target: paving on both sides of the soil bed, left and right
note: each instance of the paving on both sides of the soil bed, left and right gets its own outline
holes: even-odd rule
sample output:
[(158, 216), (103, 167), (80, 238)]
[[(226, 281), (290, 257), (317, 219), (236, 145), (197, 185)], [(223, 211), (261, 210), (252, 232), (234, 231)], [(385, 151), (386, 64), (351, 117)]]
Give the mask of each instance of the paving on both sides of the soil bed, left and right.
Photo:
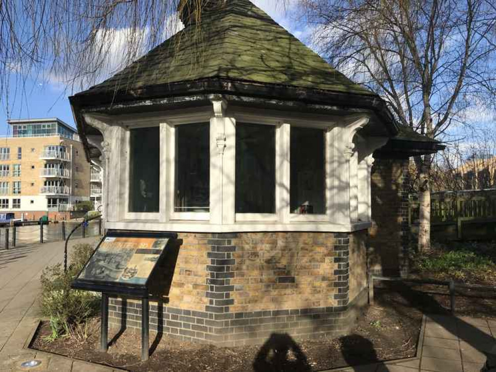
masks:
[[(82, 242), (96, 244), (96, 238), (74, 240), (70, 248)], [(32, 371), (118, 371), (27, 349), (39, 320), (34, 305), (41, 272), (47, 265), (62, 262), (63, 251), (63, 242), (0, 250), (0, 372), (26, 371), (20, 363), (31, 358), (42, 361)], [(496, 348), (495, 337), (496, 320), (428, 316), (416, 358), (334, 371), (479, 372), (486, 361), (484, 352)]]

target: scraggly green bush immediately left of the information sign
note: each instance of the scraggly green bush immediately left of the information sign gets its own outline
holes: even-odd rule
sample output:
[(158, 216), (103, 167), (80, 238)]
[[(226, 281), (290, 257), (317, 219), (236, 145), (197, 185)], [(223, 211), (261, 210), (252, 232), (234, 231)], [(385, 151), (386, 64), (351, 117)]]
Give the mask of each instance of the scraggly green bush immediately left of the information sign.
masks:
[(61, 263), (48, 266), (41, 275), (40, 307), (42, 315), (50, 319), (51, 341), (68, 336), (86, 320), (95, 315), (99, 298), (87, 291), (71, 289), (71, 282), (82, 270), (93, 252), (89, 244), (74, 247), (67, 273)]

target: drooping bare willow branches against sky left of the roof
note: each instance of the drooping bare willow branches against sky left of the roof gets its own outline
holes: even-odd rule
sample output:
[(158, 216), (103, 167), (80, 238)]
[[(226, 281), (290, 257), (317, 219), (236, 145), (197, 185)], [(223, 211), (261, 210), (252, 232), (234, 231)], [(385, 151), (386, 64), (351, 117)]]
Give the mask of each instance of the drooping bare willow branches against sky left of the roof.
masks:
[(177, 16), (217, 0), (0, 0), (0, 105), (26, 79), (87, 88), (130, 64), (182, 25)]

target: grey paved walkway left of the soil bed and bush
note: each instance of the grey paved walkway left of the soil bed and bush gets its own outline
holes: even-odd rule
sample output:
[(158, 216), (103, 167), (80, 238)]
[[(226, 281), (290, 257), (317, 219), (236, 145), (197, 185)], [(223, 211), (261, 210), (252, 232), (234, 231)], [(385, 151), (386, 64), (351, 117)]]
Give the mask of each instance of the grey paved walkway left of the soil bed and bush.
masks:
[[(70, 242), (69, 249), (78, 243), (96, 241), (95, 237), (76, 239)], [(63, 257), (64, 242), (0, 249), (0, 372), (26, 371), (19, 367), (20, 363), (35, 357), (42, 364), (32, 371), (112, 371), (27, 349), (26, 342), (39, 321), (35, 304), (40, 275), (43, 268), (62, 262)]]

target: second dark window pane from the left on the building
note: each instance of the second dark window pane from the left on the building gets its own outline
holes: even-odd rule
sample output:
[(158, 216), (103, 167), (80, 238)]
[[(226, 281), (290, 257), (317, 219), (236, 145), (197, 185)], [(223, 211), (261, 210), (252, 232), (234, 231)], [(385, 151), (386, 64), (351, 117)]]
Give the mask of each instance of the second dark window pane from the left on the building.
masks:
[(175, 156), (176, 212), (210, 210), (210, 124), (178, 125)]

